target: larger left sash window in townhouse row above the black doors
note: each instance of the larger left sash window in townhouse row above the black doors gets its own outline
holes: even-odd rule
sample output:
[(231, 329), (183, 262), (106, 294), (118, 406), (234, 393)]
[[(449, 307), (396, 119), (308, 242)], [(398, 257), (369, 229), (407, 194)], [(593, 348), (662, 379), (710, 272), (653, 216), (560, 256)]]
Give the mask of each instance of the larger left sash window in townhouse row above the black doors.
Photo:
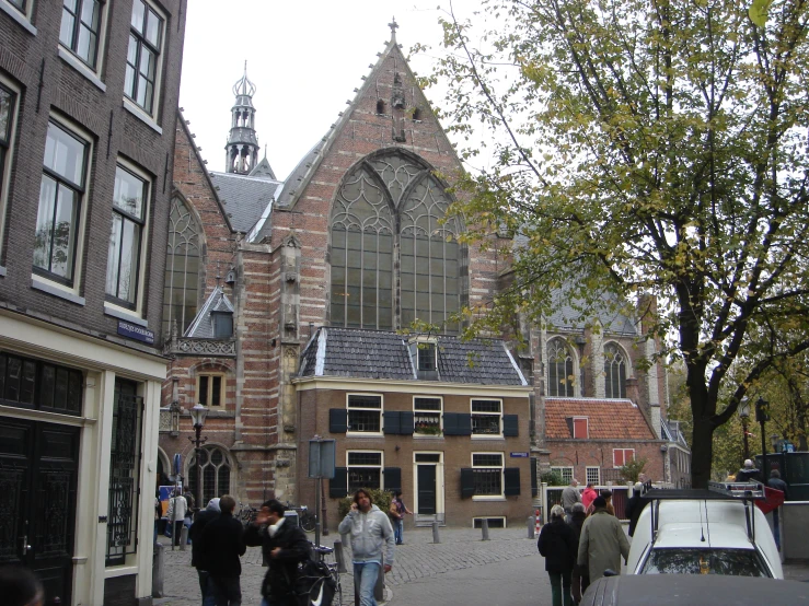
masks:
[(34, 271), (73, 285), (86, 194), (91, 143), (56, 121), (48, 124), (36, 217)]

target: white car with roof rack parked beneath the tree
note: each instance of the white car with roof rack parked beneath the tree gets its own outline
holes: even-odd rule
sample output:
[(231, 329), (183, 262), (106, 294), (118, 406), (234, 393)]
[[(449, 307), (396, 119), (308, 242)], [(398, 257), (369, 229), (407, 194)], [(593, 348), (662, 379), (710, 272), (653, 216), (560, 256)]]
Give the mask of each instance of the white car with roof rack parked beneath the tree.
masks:
[(784, 579), (772, 531), (753, 503), (755, 485), (652, 490), (638, 517), (629, 574), (733, 574)]

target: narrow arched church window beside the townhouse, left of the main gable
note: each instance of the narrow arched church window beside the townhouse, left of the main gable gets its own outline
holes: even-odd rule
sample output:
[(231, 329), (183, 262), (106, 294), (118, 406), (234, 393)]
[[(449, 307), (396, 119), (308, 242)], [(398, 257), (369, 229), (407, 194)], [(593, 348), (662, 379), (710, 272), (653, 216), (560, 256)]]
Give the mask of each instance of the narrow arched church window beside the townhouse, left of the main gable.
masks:
[(183, 200), (172, 199), (169, 250), (163, 287), (163, 334), (177, 323), (182, 335), (197, 314), (199, 291), (199, 225)]

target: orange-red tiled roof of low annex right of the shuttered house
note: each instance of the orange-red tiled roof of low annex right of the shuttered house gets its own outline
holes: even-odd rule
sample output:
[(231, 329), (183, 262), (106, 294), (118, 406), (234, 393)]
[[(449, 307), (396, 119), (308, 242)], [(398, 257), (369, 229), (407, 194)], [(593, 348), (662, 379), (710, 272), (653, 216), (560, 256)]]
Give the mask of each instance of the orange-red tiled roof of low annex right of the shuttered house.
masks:
[(570, 417), (587, 417), (590, 440), (657, 440), (646, 417), (628, 399), (545, 398), (545, 438), (573, 438)]

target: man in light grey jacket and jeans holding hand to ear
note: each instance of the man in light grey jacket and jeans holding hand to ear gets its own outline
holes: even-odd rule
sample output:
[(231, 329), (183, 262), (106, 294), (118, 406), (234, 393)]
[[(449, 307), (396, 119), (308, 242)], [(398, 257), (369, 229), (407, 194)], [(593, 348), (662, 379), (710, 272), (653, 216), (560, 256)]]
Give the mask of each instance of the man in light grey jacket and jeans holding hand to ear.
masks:
[[(351, 509), (337, 527), (339, 534), (350, 535), (354, 561), (354, 585), (359, 587), (359, 606), (377, 606), (373, 588), (380, 567), (385, 574), (393, 567), (395, 540), (393, 528), (382, 510), (373, 504), (367, 490), (354, 493)], [(382, 544), (386, 544), (384, 560)]]

